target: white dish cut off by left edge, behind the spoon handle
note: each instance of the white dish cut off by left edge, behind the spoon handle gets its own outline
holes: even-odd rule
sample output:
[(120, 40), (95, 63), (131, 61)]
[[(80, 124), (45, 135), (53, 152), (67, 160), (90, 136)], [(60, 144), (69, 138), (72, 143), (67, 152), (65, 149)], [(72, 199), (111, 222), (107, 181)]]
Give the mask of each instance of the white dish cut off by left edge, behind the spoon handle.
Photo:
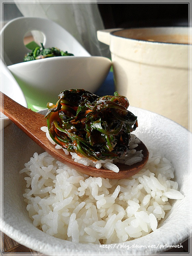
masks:
[[(3, 65), (3, 62), (0, 60), (0, 91), (5, 93), (7, 96), (20, 103), (24, 107), (27, 107), (27, 102), (23, 94), (22, 89), (19, 84), (16, 82), (15, 78), (8, 70), (7, 67)], [(0, 103), (2, 104), (2, 102)], [(8, 117), (0, 113), (0, 129), (5, 128), (11, 121)]]

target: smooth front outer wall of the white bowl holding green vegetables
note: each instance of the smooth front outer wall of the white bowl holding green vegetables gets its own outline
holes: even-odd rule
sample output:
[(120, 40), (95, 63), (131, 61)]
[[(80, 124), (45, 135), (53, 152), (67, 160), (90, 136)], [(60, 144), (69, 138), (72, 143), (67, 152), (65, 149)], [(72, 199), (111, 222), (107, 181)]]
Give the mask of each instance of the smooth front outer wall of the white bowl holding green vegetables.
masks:
[[(61, 91), (82, 88), (95, 92), (111, 67), (108, 58), (52, 57), (8, 66), (33, 109), (56, 104)], [(31, 107), (31, 106), (30, 106)]]

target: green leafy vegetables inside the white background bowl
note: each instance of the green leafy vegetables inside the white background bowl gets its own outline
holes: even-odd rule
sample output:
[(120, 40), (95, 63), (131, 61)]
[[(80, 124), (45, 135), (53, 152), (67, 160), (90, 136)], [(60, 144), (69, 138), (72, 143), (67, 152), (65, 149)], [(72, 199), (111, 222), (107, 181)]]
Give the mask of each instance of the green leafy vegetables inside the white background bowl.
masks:
[(29, 52), (24, 57), (24, 62), (50, 58), (50, 57), (57, 57), (57, 56), (74, 56), (72, 53), (68, 53), (67, 51), (60, 51), (58, 48), (44, 48), (43, 44), (41, 43), (41, 47), (36, 47), (32, 52)]

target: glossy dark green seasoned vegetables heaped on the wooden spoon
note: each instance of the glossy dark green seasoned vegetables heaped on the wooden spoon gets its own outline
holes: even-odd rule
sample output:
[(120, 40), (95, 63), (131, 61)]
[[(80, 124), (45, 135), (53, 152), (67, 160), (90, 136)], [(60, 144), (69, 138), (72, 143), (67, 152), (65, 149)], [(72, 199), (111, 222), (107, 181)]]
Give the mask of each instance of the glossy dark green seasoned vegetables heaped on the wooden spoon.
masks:
[(117, 92), (98, 97), (84, 89), (62, 91), (56, 105), (47, 103), (51, 138), (70, 152), (92, 160), (114, 159), (129, 151), (137, 117)]

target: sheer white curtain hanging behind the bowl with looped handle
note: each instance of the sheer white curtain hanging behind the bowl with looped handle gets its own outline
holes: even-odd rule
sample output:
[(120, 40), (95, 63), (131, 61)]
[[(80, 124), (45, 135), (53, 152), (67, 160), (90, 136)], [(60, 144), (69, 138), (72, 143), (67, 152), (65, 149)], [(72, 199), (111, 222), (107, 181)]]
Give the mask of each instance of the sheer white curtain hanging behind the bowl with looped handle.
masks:
[(50, 19), (71, 33), (78, 42), (92, 55), (110, 57), (109, 46), (97, 39), (97, 30), (104, 29), (102, 17), (96, 2), (45, 0), (14, 0), (24, 17)]

